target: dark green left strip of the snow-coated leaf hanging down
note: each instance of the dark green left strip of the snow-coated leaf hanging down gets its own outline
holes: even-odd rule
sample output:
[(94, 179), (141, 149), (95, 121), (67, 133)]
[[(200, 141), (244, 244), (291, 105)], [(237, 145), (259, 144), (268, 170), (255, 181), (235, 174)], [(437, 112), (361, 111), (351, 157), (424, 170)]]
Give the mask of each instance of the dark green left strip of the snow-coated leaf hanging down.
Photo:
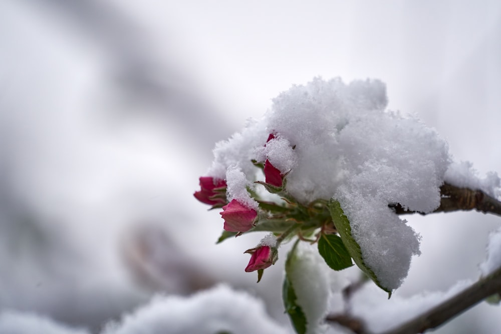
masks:
[(292, 266), (294, 265), (294, 258), (296, 256), (295, 252), (296, 252), (296, 246), (298, 245), (298, 241), (296, 241), (294, 247), (287, 255), (287, 260), (285, 263), (284, 285), (282, 288), (282, 298), (284, 300), (285, 311), (286, 313), (289, 314), (289, 317), (291, 318), (291, 322), (294, 325), (296, 332), (298, 334), (305, 334), (306, 324), (308, 323), (308, 321), (306, 320), (306, 315), (303, 312), (303, 309), (297, 303), (296, 291), (294, 290), (294, 286), (292, 285), (291, 279), (289, 277), (290, 272), (292, 270)]

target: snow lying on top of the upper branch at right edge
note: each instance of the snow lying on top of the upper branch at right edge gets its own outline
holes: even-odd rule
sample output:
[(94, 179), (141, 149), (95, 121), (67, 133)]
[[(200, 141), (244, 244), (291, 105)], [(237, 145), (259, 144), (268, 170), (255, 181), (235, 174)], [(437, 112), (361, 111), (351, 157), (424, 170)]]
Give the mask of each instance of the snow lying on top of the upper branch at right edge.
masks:
[(488, 172), (483, 179), (477, 174), (471, 162), (454, 162), (445, 172), (444, 181), (460, 188), (482, 190), (494, 198), (501, 196), (501, 180), (497, 173)]

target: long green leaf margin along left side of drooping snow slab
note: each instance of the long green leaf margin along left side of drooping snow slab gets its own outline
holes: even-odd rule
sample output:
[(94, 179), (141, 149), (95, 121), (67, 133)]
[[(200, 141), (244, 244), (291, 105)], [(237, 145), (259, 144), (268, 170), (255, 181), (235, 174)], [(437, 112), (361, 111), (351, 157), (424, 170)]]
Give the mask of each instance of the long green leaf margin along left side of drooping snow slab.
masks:
[(388, 292), (388, 298), (391, 296), (391, 289), (381, 285), (376, 274), (369, 268), (362, 258), (362, 250), (360, 249), (360, 245), (353, 239), (351, 235), (351, 226), (348, 217), (344, 214), (343, 209), (341, 208), (341, 204), (338, 201), (331, 199), (329, 202), (329, 211), (331, 212), (332, 221), (336, 226), (336, 229), (341, 236), (341, 240), (343, 240), (346, 249), (350, 253), (353, 260), (358, 265), (358, 267), (369, 276), (377, 286)]

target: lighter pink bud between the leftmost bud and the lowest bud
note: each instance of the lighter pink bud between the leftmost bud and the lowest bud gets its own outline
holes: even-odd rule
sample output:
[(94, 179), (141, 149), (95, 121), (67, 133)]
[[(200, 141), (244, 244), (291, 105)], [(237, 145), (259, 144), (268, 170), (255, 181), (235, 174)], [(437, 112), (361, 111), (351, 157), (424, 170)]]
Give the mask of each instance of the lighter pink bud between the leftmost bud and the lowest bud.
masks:
[(224, 229), (228, 232), (247, 232), (254, 226), (258, 212), (240, 204), (236, 199), (222, 207)]

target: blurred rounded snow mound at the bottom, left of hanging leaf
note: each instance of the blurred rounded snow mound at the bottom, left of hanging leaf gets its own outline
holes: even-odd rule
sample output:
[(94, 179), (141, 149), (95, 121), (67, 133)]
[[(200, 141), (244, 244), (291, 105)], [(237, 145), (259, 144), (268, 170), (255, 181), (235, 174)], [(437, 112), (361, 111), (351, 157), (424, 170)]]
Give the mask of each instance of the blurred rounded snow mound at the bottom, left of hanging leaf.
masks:
[(191, 297), (157, 297), (150, 304), (111, 322), (102, 334), (286, 334), (262, 301), (220, 285)]

